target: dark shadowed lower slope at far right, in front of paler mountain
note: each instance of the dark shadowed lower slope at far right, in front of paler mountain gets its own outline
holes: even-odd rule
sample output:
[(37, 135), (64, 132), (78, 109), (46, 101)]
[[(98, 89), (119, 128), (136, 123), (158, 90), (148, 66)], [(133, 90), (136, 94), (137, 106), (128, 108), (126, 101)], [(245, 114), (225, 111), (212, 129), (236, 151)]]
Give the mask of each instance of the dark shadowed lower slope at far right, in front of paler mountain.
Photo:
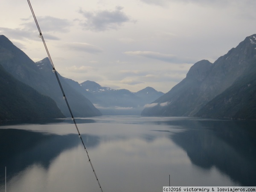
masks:
[(195, 116), (256, 119), (256, 60), (246, 75), (208, 102)]

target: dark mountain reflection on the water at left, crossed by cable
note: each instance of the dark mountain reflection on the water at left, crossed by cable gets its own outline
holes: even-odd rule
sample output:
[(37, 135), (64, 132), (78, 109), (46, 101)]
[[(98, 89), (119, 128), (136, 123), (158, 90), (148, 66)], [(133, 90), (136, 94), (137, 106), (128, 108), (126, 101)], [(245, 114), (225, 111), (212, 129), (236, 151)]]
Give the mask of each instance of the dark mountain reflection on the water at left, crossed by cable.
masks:
[[(97, 136), (82, 135), (82, 137), (88, 148), (99, 143)], [(80, 142), (76, 134), (57, 135), (18, 129), (0, 129), (0, 165), (8, 167), (9, 177), (34, 163), (48, 169), (51, 160)], [(1, 182), (3, 182), (3, 174), (0, 172)]]

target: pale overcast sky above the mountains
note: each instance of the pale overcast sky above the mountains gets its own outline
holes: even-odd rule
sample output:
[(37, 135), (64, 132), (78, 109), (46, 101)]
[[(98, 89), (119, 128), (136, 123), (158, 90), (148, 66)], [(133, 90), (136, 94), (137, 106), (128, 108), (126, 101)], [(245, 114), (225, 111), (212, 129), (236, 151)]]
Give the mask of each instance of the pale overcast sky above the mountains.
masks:
[[(164, 93), (197, 61), (214, 62), (256, 33), (255, 0), (30, 0), (55, 69), (133, 92)], [(47, 57), (27, 0), (1, 0), (0, 35)]]

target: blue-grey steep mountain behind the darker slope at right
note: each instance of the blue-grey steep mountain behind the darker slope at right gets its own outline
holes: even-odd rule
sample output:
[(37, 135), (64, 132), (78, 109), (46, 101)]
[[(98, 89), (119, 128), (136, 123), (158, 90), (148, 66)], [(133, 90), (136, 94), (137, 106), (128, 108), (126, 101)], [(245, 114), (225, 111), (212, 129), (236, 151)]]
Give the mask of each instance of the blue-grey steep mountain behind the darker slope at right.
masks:
[(245, 38), (236, 48), (213, 64), (199, 61), (185, 79), (142, 111), (149, 116), (194, 116), (209, 101), (230, 87), (255, 64), (256, 35)]

